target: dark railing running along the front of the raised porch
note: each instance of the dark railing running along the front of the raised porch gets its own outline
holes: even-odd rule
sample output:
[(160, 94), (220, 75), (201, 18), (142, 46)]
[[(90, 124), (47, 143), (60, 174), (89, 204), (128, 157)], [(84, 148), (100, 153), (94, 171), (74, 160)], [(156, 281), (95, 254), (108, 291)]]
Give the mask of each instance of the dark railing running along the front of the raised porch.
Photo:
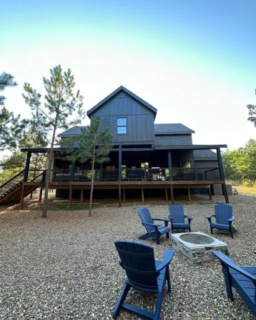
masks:
[[(95, 169), (95, 181), (118, 181), (118, 169)], [(215, 168), (122, 168), (121, 180), (153, 181), (153, 180), (219, 180), (220, 170)], [(29, 170), (27, 181), (45, 181), (46, 170)], [(50, 181), (90, 181), (91, 169), (53, 169)]]

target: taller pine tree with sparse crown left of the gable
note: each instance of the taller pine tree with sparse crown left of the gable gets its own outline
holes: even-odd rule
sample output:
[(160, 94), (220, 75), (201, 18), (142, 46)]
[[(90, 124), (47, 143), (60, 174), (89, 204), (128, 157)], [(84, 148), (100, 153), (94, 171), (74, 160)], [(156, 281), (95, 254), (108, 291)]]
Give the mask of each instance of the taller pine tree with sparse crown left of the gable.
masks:
[(43, 77), (43, 84), (46, 90), (44, 103), (41, 102), (41, 94), (27, 82), (24, 83), (25, 93), (22, 96), (31, 107), (32, 123), (50, 145), (42, 207), (42, 217), (46, 217), (53, 146), (58, 143), (56, 130), (66, 130), (71, 125), (79, 124), (85, 114), (82, 110), (83, 96), (79, 90), (73, 93), (75, 82), (69, 68), (67, 71), (62, 71), (60, 64), (54, 66), (50, 69), (50, 77), (48, 79)]

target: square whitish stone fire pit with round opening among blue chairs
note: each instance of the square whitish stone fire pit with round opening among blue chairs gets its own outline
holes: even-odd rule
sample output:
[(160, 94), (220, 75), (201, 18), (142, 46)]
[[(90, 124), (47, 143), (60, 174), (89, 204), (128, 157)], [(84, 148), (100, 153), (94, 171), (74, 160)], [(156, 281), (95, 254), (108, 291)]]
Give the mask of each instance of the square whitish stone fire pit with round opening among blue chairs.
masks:
[(216, 259), (212, 251), (218, 250), (228, 254), (228, 247), (212, 236), (202, 232), (172, 233), (171, 243), (191, 262), (210, 261)]

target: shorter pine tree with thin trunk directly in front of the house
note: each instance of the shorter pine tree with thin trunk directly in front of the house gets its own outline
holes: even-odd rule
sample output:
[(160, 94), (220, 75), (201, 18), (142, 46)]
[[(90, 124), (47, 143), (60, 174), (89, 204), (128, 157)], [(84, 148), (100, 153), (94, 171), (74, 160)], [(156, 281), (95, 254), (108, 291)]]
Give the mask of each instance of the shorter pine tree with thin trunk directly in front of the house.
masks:
[[(108, 154), (112, 147), (111, 139), (112, 135), (109, 133), (107, 127), (104, 130), (100, 130), (100, 117), (97, 116), (95, 119), (91, 119), (90, 126), (81, 129), (81, 134), (76, 138), (76, 143), (78, 145), (77, 150), (67, 150), (69, 153), (68, 158), (70, 160), (78, 160), (82, 163), (90, 161), (91, 163), (92, 177), (88, 216), (91, 216), (94, 164), (109, 161)], [(73, 143), (74, 140), (68, 138), (63, 139), (62, 141), (62, 144), (64, 145), (73, 145)]]

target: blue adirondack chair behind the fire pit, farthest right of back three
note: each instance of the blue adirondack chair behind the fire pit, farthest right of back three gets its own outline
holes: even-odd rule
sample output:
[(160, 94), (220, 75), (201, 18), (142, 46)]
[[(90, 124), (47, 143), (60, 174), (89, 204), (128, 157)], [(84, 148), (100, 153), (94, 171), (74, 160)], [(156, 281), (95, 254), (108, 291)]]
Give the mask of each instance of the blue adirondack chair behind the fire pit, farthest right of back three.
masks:
[[(205, 218), (208, 219), (210, 224), (210, 233), (212, 234), (212, 229), (221, 229), (230, 231), (231, 237), (233, 237), (233, 227), (232, 221), (234, 217), (232, 216), (232, 206), (229, 204), (215, 204), (214, 206), (215, 214), (206, 215)], [(216, 218), (216, 223), (211, 222), (211, 217)]]

